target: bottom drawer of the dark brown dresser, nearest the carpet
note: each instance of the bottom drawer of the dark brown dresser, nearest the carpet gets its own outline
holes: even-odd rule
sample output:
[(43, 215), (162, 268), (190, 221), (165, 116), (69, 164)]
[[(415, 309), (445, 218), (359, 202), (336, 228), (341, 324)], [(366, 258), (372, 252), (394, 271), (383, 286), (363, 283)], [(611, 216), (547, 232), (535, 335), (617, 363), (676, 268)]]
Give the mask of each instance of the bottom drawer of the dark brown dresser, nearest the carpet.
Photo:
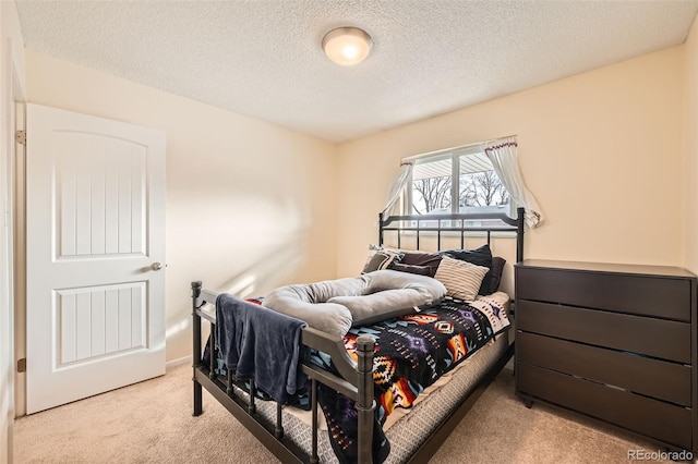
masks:
[(691, 411), (524, 363), (518, 391), (675, 447), (691, 448)]

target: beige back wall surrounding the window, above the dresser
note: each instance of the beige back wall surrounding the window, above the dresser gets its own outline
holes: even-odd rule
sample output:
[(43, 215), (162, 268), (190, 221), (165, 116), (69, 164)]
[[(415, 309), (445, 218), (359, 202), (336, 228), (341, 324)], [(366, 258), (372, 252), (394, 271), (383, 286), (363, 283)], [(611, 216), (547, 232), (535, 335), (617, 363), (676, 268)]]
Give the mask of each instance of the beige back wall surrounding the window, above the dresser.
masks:
[(683, 58), (665, 49), (340, 146), (338, 274), (376, 241), (401, 158), (514, 134), (546, 219), (525, 257), (682, 265)]

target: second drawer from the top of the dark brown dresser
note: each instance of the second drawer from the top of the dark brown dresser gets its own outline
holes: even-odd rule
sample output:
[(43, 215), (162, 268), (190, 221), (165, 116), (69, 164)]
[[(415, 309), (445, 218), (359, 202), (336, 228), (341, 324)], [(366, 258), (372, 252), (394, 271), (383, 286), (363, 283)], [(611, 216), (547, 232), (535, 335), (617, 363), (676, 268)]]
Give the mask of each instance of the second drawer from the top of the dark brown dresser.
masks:
[(518, 330), (690, 364), (690, 323), (517, 300)]

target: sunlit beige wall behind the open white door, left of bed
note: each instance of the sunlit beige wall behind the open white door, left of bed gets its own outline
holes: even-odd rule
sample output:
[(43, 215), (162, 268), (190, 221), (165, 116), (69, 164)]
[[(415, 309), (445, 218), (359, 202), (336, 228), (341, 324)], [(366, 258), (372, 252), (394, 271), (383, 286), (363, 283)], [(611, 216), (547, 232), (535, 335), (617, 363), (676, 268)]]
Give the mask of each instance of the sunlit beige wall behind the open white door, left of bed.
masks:
[(336, 147), (26, 51), (29, 101), (167, 132), (167, 359), (191, 354), (190, 282), (262, 295), (336, 269)]

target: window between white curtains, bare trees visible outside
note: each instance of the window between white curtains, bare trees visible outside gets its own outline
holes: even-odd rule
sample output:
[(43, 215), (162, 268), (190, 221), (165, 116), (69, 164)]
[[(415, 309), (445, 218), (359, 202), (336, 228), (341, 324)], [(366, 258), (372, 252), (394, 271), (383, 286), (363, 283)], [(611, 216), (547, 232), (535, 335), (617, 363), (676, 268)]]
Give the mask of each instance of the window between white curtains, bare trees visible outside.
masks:
[(406, 210), (412, 215), (500, 212), (515, 217), (512, 199), (480, 146), (413, 159)]

